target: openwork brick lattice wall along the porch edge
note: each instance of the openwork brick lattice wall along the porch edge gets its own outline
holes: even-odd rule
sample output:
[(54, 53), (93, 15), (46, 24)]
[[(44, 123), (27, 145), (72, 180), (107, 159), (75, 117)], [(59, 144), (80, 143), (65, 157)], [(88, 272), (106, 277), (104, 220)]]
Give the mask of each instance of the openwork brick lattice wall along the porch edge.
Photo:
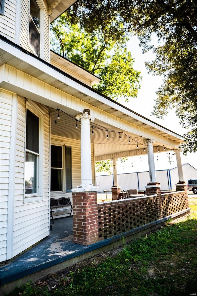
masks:
[(111, 238), (188, 208), (185, 191), (98, 204), (98, 240)]

